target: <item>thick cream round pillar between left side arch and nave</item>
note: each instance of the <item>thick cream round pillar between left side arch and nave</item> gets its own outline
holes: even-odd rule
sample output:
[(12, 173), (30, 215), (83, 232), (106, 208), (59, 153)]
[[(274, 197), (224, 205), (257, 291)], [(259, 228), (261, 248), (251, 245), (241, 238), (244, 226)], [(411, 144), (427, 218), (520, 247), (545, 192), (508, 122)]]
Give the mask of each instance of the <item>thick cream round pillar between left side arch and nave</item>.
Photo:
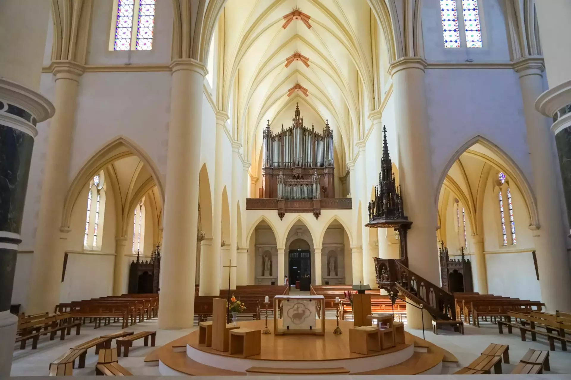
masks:
[(170, 67), (171, 115), (160, 260), (159, 328), (186, 329), (194, 323), (196, 210), (206, 67), (194, 59), (176, 59)]

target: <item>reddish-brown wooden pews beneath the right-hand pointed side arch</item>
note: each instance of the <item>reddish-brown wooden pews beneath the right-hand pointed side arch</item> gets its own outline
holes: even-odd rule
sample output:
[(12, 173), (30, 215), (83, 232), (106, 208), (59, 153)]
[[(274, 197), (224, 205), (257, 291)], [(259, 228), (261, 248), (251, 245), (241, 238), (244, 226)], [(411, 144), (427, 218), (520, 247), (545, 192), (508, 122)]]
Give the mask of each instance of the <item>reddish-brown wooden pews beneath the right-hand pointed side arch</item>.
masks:
[(508, 312), (541, 312), (544, 303), (480, 293), (455, 293), (456, 318), (480, 327), (480, 319), (496, 321)]

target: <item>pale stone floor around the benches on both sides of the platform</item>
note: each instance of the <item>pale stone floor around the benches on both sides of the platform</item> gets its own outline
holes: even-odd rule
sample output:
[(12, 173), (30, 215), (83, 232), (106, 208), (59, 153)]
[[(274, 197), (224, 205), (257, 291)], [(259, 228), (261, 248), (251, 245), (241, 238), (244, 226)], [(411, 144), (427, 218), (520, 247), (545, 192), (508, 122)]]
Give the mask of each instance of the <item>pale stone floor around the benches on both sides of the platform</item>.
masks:
[[(498, 334), (497, 326), (489, 322), (481, 322), (480, 328), (471, 325), (465, 325), (465, 335), (454, 332), (440, 332), (438, 335), (432, 333), (432, 330), (425, 332), (425, 339), (455, 354), (459, 360), (458, 367), (444, 367), (444, 374), (453, 373), (461, 366), (467, 365), (476, 359), (480, 353), (490, 344), (507, 344), (509, 345), (510, 364), (503, 364), (503, 373), (510, 373), (516, 363), (524, 356), (529, 348), (549, 350), (549, 345), (541, 336), (537, 337), (537, 342), (522, 342), (520, 334)], [(128, 330), (144, 331), (157, 330), (156, 346), (166, 344), (176, 338), (188, 334), (196, 328), (184, 330), (160, 330), (157, 328), (156, 319), (138, 323), (130, 326)], [(67, 336), (65, 341), (60, 341), (59, 337), (50, 341), (47, 337), (42, 337), (38, 344), (37, 350), (31, 350), (31, 342), (25, 350), (19, 350), (18, 345), (14, 345), (14, 360), (12, 364), (12, 376), (36, 376), (48, 375), (49, 363), (54, 359), (62, 356), (68, 348), (81, 344), (87, 340), (104, 334), (116, 332), (120, 330), (120, 324), (112, 324), (94, 329), (93, 324), (83, 325), (81, 335), (76, 336), (75, 331), (72, 335)], [(422, 330), (408, 329), (409, 333), (423, 337)], [(530, 337), (528, 336), (530, 339)], [(154, 348), (144, 347), (143, 340), (134, 342), (129, 352), (128, 358), (120, 358), (119, 363), (130, 370), (134, 375), (160, 375), (158, 367), (145, 366), (143, 359)], [(562, 352), (560, 345), (556, 343), (556, 351), (549, 353), (551, 371), (547, 374), (571, 374), (571, 350)], [(90, 349), (87, 354), (86, 366), (82, 369), (74, 369), (74, 375), (94, 375), (97, 356), (95, 350)], [(535, 378), (535, 377), (534, 377)], [(569, 375), (571, 378), (571, 375)]]

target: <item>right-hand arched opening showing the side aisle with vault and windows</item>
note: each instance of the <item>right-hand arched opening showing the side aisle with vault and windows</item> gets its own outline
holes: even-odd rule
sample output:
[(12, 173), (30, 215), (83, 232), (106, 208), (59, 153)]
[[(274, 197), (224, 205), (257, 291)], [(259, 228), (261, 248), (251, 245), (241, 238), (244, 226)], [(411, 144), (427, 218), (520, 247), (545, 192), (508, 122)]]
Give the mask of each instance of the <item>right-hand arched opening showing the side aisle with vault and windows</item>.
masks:
[(470, 288), (464, 279), (472, 278), (476, 292), (541, 299), (529, 228), (537, 220), (535, 200), (517, 165), (491, 142), (476, 138), (452, 158), (441, 178), (438, 238), (452, 260), (464, 254), (472, 263), (472, 273), (441, 267), (451, 289), (454, 281), (456, 289), (460, 282)]

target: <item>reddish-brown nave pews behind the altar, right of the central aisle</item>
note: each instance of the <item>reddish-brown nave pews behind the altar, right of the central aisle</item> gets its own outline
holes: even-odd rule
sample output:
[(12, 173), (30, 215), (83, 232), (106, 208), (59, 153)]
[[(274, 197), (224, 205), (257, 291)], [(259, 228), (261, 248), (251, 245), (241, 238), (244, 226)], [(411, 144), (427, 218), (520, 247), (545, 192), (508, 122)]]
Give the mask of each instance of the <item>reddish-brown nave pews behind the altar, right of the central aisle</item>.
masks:
[[(345, 320), (345, 315), (352, 313), (351, 303), (345, 299), (345, 292), (355, 292), (352, 290), (351, 285), (315, 285), (311, 287), (311, 294), (316, 296), (325, 297), (325, 309), (335, 309), (335, 299), (339, 297), (339, 318)], [(407, 314), (407, 305), (401, 301), (396, 300), (393, 307), (389, 296), (380, 295), (379, 290), (365, 291), (371, 295), (371, 308), (373, 313), (392, 313), (402, 320), (403, 314)]]

